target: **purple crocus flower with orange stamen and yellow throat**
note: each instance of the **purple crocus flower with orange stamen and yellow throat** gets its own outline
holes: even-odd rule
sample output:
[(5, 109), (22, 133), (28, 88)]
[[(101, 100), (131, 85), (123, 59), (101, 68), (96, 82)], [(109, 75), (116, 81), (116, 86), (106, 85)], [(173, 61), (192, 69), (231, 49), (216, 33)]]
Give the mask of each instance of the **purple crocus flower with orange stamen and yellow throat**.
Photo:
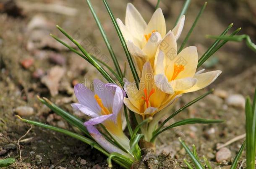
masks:
[(84, 123), (91, 136), (102, 147), (107, 146), (112, 152), (117, 152), (116, 149), (118, 148), (112, 144), (110, 145), (99, 131), (94, 128), (96, 124), (103, 124), (124, 149), (130, 150), (129, 139), (122, 130), (121, 110), (125, 91), (115, 84), (105, 84), (99, 80), (94, 80), (94, 92), (81, 83), (74, 86), (74, 91), (79, 103), (73, 103), (71, 106), (91, 117), (89, 121)]

